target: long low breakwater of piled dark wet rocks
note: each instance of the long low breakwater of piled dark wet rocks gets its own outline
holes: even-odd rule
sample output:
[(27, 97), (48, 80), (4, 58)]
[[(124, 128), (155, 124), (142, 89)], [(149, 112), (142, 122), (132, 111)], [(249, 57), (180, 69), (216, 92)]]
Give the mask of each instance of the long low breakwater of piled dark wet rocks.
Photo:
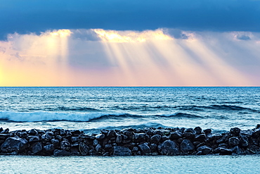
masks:
[(0, 154), (40, 156), (141, 156), (260, 154), (260, 125), (252, 130), (143, 128), (100, 130), (15, 130), (0, 128)]

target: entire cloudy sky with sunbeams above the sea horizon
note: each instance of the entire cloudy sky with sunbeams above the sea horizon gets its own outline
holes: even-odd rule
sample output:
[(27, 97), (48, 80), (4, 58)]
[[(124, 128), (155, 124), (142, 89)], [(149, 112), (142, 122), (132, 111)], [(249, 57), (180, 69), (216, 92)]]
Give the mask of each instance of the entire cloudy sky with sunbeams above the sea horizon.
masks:
[(259, 0), (0, 0), (0, 86), (260, 86)]

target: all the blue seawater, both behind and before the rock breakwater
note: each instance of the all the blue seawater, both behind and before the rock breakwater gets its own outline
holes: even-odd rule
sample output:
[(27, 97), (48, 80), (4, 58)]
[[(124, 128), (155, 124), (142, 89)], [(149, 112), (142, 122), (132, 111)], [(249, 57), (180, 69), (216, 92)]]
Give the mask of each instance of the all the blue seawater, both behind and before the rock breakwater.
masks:
[[(0, 87), (0, 128), (212, 128), (260, 123), (260, 87)], [(256, 156), (1, 156), (1, 173), (259, 173)], [(207, 161), (205, 163), (204, 161)], [(256, 165), (257, 164), (257, 165)], [(36, 167), (37, 166), (37, 167)]]

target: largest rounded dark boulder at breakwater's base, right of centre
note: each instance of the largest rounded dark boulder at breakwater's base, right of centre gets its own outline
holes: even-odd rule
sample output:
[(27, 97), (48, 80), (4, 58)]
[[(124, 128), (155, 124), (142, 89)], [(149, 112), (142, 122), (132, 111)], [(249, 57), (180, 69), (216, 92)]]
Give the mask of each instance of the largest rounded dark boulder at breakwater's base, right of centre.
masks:
[(179, 154), (178, 145), (171, 141), (166, 140), (158, 146), (158, 151), (162, 155), (177, 155)]

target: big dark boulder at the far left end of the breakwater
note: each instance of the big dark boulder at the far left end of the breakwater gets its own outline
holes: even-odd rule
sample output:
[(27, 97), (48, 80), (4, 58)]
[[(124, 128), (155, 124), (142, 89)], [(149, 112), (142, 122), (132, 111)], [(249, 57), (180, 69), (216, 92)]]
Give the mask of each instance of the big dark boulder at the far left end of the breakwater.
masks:
[(6, 141), (1, 144), (2, 151), (22, 151), (23, 149), (29, 147), (27, 140), (20, 137), (8, 137)]

